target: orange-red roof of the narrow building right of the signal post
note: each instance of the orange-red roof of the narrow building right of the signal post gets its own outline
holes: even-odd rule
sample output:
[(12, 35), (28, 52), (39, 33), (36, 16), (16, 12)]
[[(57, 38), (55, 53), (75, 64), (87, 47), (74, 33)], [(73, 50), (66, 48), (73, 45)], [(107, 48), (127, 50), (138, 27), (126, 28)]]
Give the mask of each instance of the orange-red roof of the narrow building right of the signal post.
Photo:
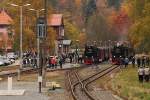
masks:
[(48, 18), (49, 26), (61, 26), (63, 24), (63, 15), (62, 14), (52, 14)]

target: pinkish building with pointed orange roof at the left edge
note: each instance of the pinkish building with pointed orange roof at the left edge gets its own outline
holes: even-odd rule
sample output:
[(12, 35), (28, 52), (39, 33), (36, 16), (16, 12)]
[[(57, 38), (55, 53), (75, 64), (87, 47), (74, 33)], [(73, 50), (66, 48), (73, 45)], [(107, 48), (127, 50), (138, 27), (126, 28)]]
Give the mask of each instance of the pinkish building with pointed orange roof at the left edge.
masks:
[(12, 18), (5, 10), (0, 11), (0, 52), (9, 52), (13, 49)]

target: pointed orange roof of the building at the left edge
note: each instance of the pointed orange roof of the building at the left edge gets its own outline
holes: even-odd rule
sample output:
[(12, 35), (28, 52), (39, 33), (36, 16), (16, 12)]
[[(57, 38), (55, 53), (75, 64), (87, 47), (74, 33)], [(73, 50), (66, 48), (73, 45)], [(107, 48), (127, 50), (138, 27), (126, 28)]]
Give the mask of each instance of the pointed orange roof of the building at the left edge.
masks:
[(12, 18), (4, 10), (0, 12), (0, 24), (10, 25), (12, 21)]

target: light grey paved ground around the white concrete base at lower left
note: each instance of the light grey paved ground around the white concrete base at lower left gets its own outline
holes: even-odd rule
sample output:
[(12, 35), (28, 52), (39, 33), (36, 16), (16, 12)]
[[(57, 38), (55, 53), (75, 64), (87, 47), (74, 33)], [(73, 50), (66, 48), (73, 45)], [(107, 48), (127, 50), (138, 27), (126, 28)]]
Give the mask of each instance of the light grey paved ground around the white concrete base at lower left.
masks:
[[(38, 93), (38, 84), (35, 82), (15, 82), (13, 89), (25, 89), (23, 96), (0, 96), (0, 100), (48, 100), (49, 97)], [(0, 90), (7, 88), (7, 82), (0, 82)]]

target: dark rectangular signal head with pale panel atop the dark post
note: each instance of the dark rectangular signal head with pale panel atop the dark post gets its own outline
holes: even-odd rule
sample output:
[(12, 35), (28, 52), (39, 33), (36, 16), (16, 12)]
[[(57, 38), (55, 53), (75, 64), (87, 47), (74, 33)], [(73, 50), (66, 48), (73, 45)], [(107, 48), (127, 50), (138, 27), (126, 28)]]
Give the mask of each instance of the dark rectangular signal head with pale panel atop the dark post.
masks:
[(44, 17), (39, 17), (37, 20), (37, 37), (46, 37), (46, 21)]

